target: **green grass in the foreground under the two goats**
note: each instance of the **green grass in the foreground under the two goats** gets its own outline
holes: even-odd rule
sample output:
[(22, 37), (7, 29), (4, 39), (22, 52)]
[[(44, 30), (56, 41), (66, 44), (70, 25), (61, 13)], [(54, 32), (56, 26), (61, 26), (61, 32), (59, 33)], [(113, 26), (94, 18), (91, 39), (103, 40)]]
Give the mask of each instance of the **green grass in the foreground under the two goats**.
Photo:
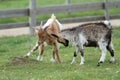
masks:
[[(14, 57), (25, 55), (35, 44), (36, 36), (0, 37), (0, 80), (119, 80), (120, 79), (120, 27), (113, 29), (113, 44), (115, 48), (115, 63), (108, 62), (110, 55), (107, 53), (106, 61), (97, 67), (100, 52), (97, 48), (85, 48), (85, 64), (71, 65), (74, 47), (70, 45), (60, 47), (62, 63), (51, 63), (52, 48), (45, 47), (42, 62), (36, 61), (38, 51), (29, 58), (26, 64), (10, 64)], [(9, 64), (8, 64), (9, 63)]]

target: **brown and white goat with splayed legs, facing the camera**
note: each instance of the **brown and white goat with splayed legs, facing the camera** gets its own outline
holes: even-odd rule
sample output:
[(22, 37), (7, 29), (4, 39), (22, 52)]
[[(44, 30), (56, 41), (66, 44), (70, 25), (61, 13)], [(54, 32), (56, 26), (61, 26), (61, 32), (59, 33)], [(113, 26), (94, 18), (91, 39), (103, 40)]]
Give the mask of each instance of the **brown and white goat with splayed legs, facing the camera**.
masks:
[(56, 19), (54, 14), (51, 16), (50, 19), (46, 22), (44, 26), (40, 26), (40, 28), (36, 29), (36, 33), (38, 36), (38, 42), (33, 47), (33, 49), (28, 52), (24, 57), (29, 57), (35, 50), (38, 49), (40, 46), (41, 52), (39, 53), (37, 60), (42, 61), (43, 59), (43, 52), (44, 52), (44, 43), (46, 42), (48, 45), (53, 46), (53, 54), (51, 61), (55, 62), (55, 54), (57, 56), (58, 63), (61, 63), (58, 54), (58, 43), (62, 43), (64, 46), (68, 46), (69, 41), (62, 37), (60, 34), (62, 24)]

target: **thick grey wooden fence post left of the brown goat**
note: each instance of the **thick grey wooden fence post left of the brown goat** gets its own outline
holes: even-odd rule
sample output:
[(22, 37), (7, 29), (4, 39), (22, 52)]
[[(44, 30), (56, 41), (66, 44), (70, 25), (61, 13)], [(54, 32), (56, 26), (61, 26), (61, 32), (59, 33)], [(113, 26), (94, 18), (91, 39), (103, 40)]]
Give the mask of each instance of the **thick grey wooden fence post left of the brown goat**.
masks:
[(29, 26), (30, 35), (34, 35), (36, 26), (36, 0), (29, 0)]

